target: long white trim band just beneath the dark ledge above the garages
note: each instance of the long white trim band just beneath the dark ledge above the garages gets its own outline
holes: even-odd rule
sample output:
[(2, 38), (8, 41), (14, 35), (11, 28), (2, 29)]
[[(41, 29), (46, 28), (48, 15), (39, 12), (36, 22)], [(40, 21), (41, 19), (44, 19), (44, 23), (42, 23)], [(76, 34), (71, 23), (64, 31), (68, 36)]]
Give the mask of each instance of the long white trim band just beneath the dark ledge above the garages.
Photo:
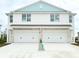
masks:
[(39, 28), (53, 28), (53, 29), (71, 29), (71, 26), (12, 26), (12, 29), (15, 29), (15, 28), (21, 28), (21, 29), (28, 29), (28, 28), (36, 28), (36, 29), (39, 29)]

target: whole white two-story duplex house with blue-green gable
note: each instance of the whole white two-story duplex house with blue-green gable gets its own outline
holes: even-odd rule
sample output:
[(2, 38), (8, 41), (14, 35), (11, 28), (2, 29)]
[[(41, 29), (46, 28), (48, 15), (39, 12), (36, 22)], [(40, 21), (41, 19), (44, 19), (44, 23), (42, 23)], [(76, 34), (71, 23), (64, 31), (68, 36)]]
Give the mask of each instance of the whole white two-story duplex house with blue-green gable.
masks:
[(8, 43), (43, 42), (72, 43), (74, 15), (44, 1), (7, 13)]

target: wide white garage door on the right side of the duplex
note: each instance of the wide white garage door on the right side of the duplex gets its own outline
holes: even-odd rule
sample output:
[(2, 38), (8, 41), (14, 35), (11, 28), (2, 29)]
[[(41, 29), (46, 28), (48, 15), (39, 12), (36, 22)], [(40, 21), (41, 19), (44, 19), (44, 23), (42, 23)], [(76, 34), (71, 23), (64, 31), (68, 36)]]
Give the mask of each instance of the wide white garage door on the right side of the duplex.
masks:
[(68, 42), (67, 30), (44, 30), (43, 42)]

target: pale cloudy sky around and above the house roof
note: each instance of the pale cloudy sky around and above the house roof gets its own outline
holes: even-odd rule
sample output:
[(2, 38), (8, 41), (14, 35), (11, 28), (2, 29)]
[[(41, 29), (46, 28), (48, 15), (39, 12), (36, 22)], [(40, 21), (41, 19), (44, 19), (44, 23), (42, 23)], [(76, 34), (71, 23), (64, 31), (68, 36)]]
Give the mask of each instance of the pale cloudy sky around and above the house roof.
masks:
[[(2, 25), (1, 30), (4, 31), (8, 25), (8, 17), (5, 13), (16, 10), (23, 6), (32, 4), (39, 0), (0, 0), (0, 24)], [(79, 32), (79, 0), (43, 0), (52, 5), (56, 5), (60, 8), (72, 11), (73, 13), (77, 13), (74, 17), (75, 23), (75, 36), (77, 36), (77, 32)]]

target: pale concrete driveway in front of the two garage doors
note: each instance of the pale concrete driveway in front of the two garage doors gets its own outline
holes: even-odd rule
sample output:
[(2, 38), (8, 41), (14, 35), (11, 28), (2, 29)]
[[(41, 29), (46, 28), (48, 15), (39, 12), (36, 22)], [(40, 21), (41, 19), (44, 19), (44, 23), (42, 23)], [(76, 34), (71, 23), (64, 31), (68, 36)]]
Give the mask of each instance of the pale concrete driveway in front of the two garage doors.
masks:
[(79, 47), (64, 43), (12, 43), (0, 48), (0, 58), (79, 58)]

